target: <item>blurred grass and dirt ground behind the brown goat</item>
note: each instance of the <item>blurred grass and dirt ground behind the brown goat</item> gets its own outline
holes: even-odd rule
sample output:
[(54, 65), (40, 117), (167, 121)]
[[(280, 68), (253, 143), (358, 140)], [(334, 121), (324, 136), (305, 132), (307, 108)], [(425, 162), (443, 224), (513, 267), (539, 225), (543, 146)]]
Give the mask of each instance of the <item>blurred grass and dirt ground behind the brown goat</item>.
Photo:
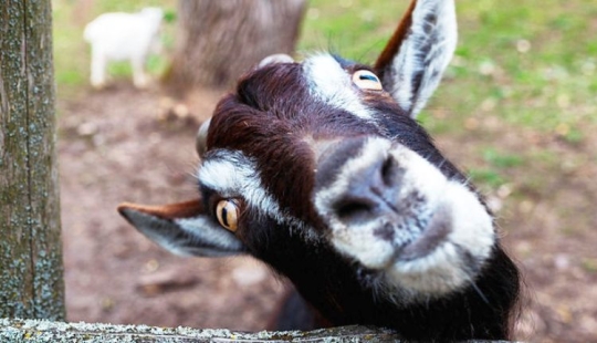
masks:
[[(125, 200), (193, 197), (196, 129), (239, 73), (180, 76), (195, 74), (193, 67), (221, 67), (201, 64), (207, 58), (180, 56), (203, 44), (203, 37), (228, 30), (206, 20), (213, 12), (197, 13), (179, 1), (52, 1), (67, 319), (261, 330), (283, 280), (250, 258), (170, 256), (115, 210)], [(129, 63), (117, 62), (108, 66), (106, 85), (92, 87), (85, 25), (104, 12), (149, 6), (161, 8), (164, 20), (159, 49), (147, 61), (148, 85), (135, 87)], [(300, 28), (295, 55), (331, 50), (374, 62), (407, 6), (306, 1), (293, 14)], [(485, 195), (523, 270), (517, 339), (596, 342), (597, 3), (458, 0), (457, 7), (459, 46), (420, 121)], [(205, 25), (192, 29), (201, 33), (190, 42), (193, 15)], [(234, 15), (220, 17), (238, 30)], [(259, 50), (260, 41), (273, 40), (255, 32), (262, 33), (237, 46)], [(292, 34), (284, 40), (292, 50)], [(221, 45), (195, 50), (214, 55)], [(227, 53), (216, 60), (230, 67), (243, 60), (240, 52)]]

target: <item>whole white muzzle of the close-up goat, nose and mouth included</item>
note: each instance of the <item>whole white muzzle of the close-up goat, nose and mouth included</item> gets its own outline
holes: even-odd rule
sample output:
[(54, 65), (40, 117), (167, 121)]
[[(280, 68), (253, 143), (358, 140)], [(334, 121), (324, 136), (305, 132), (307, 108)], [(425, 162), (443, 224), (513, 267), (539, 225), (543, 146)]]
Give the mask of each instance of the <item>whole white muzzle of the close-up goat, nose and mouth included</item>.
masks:
[(404, 146), (367, 145), (315, 194), (331, 243), (409, 293), (441, 295), (470, 283), (495, 243), (478, 195)]

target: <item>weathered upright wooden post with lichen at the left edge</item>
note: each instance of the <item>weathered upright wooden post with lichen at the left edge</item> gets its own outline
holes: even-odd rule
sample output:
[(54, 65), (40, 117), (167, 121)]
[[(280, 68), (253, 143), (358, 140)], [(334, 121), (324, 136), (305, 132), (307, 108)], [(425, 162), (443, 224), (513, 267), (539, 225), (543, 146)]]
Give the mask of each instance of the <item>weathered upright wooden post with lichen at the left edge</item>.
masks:
[(64, 319), (51, 0), (0, 6), (0, 316)]

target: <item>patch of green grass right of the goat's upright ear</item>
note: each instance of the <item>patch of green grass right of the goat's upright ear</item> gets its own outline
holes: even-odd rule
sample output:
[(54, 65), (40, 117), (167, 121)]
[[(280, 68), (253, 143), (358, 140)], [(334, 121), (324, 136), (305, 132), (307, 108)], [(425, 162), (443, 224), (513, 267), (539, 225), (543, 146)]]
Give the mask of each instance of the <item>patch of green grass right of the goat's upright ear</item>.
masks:
[(451, 98), (462, 94), (461, 87), (474, 90), (476, 102), (453, 108), (470, 114), (479, 110), (479, 103), (492, 100), (492, 113), (506, 123), (542, 132), (596, 122), (596, 43), (587, 34), (597, 28), (590, 20), (597, 14), (595, 3), (485, 0), (458, 4), (459, 85), (440, 90), (438, 96)]

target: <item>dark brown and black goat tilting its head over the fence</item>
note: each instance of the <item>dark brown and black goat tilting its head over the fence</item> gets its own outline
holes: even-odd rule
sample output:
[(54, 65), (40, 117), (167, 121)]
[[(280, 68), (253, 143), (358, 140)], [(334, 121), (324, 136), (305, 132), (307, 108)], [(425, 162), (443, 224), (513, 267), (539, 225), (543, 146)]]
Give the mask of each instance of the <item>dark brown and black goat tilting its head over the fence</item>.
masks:
[(415, 0), (373, 67), (268, 58), (199, 129), (200, 198), (118, 210), (175, 253), (264, 261), (329, 325), (509, 339), (517, 268), (416, 121), (455, 44), (454, 1)]

